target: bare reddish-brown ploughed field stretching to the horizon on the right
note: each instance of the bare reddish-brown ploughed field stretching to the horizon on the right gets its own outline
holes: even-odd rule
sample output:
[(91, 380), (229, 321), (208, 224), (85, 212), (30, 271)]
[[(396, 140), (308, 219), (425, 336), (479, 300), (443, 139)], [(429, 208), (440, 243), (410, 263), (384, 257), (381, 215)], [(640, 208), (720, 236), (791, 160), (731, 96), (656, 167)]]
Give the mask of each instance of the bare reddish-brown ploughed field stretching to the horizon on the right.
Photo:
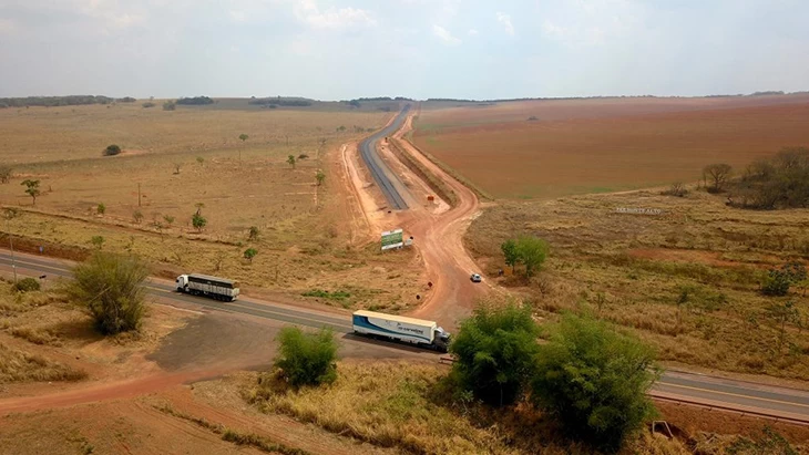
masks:
[[(529, 121), (529, 118), (535, 118)], [(414, 143), (494, 197), (695, 180), (809, 143), (809, 95), (423, 103)]]

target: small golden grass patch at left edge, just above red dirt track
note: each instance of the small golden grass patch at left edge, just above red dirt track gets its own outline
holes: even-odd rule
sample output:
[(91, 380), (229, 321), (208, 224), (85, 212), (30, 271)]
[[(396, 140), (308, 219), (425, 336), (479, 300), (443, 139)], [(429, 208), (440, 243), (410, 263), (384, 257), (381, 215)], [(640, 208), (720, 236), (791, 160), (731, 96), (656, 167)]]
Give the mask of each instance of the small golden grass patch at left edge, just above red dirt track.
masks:
[(0, 384), (33, 381), (81, 381), (88, 373), (0, 343)]

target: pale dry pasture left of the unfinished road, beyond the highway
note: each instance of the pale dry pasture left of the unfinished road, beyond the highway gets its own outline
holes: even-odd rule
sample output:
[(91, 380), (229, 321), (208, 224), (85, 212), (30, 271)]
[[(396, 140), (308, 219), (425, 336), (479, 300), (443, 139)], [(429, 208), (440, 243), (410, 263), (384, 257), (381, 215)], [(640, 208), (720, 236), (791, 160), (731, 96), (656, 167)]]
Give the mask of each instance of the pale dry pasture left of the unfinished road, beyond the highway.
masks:
[[(103, 249), (141, 255), (166, 277), (198, 271), (295, 294), (324, 289), (329, 297), (318, 300), (347, 308), (398, 311), (414, 303), (412, 255), (382, 256), (350, 244), (350, 207), (339, 180), (339, 146), (366, 134), (354, 127), (380, 127), (391, 114), (372, 103), (361, 111), (337, 110), (337, 103), (308, 110), (243, 104), (174, 112), (140, 102), (0, 110), (0, 158), (14, 170), (0, 185), (0, 203), (22, 209), (10, 221), (12, 232), (25, 237), (20, 246), (44, 245), (45, 254), (78, 258), (102, 236)], [(249, 138), (240, 141), (242, 133)], [(124, 152), (102, 157), (110, 144)], [(286, 162), (301, 154), (308, 157), (295, 168)], [(326, 174), (320, 187), (318, 168)], [(35, 206), (20, 186), (25, 178), (41, 180)], [(201, 232), (191, 225), (198, 203), (207, 218)], [(252, 226), (259, 234), (248, 239)], [(252, 262), (242, 257), (250, 247), (258, 250)]]

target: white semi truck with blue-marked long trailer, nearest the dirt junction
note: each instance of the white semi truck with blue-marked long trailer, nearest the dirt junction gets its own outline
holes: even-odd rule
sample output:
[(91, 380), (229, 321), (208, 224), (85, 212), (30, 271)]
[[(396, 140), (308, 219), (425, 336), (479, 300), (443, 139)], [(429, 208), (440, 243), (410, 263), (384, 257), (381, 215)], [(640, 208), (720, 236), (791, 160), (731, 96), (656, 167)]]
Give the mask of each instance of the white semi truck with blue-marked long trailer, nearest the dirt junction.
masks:
[(354, 332), (360, 335), (387, 338), (441, 352), (447, 352), (450, 344), (450, 333), (433, 321), (360, 310), (354, 312), (352, 323)]

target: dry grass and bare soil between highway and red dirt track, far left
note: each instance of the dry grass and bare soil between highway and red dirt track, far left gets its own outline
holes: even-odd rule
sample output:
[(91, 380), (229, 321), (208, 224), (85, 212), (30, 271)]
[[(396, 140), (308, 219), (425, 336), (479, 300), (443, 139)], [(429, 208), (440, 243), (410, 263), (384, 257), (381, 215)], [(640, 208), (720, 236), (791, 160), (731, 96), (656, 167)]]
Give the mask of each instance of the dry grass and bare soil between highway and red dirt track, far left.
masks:
[(23, 293), (0, 281), (0, 397), (38, 382), (122, 379), (145, 371), (143, 353), (187, 318), (161, 308), (150, 314), (139, 332), (105, 339), (61, 292)]

